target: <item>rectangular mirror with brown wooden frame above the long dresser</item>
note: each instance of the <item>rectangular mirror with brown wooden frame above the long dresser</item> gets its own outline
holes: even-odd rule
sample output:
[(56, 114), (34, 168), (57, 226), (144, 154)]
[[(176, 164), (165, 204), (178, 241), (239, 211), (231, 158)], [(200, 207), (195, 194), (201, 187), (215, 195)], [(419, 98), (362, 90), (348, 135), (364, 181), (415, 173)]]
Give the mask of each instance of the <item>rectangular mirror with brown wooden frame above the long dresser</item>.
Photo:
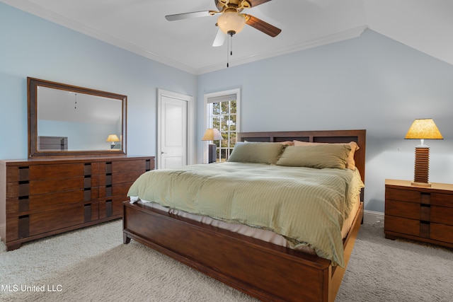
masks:
[(126, 152), (127, 96), (27, 78), (28, 157)]

